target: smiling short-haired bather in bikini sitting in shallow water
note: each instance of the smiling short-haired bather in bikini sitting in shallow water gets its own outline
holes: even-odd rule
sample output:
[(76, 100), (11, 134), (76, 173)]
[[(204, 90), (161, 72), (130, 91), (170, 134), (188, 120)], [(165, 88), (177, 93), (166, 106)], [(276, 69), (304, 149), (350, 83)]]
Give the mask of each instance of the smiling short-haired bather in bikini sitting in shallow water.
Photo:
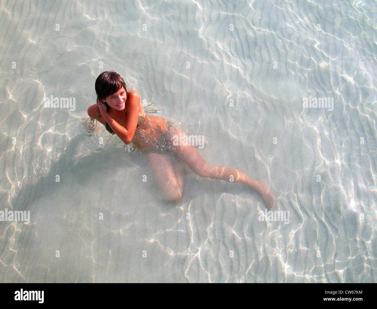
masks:
[[(90, 105), (88, 115), (125, 144), (131, 141), (146, 153), (164, 197), (173, 203), (182, 198), (184, 164), (201, 177), (247, 184), (259, 192), (268, 208), (275, 199), (265, 180), (256, 180), (241, 171), (205, 162), (179, 127), (164, 118), (146, 115), (140, 96), (126, 89), (123, 78), (115, 71), (103, 72), (95, 82), (97, 104)], [(179, 142), (177, 142), (177, 137)], [(178, 145), (177, 145), (178, 144)]]

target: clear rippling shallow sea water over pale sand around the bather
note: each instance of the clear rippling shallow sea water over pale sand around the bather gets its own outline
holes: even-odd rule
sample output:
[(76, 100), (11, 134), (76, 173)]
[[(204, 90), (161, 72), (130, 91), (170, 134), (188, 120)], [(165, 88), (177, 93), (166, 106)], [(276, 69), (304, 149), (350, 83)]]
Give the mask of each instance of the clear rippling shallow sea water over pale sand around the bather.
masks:
[[(0, 211), (30, 211), (0, 222), (0, 281), (376, 282), (376, 29), (374, 1), (0, 1)], [(164, 202), (144, 155), (82, 124), (107, 70), (289, 223), (188, 168)]]

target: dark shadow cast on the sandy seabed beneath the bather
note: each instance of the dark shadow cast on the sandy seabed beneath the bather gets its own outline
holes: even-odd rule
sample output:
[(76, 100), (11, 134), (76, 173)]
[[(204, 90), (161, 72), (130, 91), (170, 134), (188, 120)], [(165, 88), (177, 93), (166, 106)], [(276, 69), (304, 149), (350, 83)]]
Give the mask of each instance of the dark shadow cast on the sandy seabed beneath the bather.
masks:
[[(171, 207), (177, 205), (163, 200), (162, 193), (154, 181), (148, 160), (141, 152), (128, 152), (125, 148), (112, 143), (106, 144), (103, 149), (98, 150), (98, 144), (93, 144), (92, 151), (83, 153), (80, 156), (80, 145), (82, 146), (83, 143), (86, 143), (87, 147), (87, 139), (90, 139), (90, 137), (86, 136), (84, 132), (72, 138), (64, 153), (52, 164), (48, 175), (41, 176), (35, 184), (23, 185), (23, 188), (11, 201), (13, 209), (28, 210), (28, 206), (33, 204), (35, 200), (51, 196), (51, 191), (58, 189), (60, 185), (72, 186), (72, 193), (74, 193), (78, 189), (75, 184), (85, 185), (93, 175), (98, 177), (98, 183), (106, 181), (105, 178), (109, 177), (109, 175), (114, 176), (114, 181), (116, 180), (115, 177), (119, 176), (123, 179), (123, 171), (116, 174), (120, 167), (124, 169), (125, 173), (125, 190), (129, 188), (129, 185), (132, 188), (133, 184), (142, 182), (143, 175), (147, 175), (147, 179), (152, 179), (152, 181), (148, 181), (145, 184), (144, 192), (130, 192), (133, 195), (137, 195), (140, 201), (143, 201), (143, 203), (155, 201), (162, 206), (165, 205), (166, 207), (162, 207), (162, 211), (169, 211)], [(209, 178), (202, 179), (195, 175), (189, 167), (186, 166), (185, 170), (184, 192), (178, 205), (182, 204), (182, 202), (190, 202), (199, 195), (221, 195), (222, 193), (238, 196), (247, 193), (250, 198), (257, 198), (262, 201), (258, 193), (245, 185), (230, 184)], [(113, 174), (112, 171), (114, 171)], [(57, 181), (57, 175), (59, 181)], [(128, 176), (126, 177), (126, 175)]]

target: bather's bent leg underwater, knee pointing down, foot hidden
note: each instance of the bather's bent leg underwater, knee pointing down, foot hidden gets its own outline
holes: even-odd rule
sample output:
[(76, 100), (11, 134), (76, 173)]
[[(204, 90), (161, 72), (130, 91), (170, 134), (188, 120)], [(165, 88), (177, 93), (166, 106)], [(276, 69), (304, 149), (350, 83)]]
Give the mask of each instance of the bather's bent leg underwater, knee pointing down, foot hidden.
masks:
[(147, 158), (164, 198), (169, 202), (178, 202), (183, 193), (184, 173), (182, 162), (176, 164), (171, 156), (159, 153), (148, 153)]

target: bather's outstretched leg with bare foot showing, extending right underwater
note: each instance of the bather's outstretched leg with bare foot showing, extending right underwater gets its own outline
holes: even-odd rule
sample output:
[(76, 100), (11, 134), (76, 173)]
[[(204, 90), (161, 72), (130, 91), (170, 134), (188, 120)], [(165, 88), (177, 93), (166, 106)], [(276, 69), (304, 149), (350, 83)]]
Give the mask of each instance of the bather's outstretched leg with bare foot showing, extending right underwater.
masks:
[[(182, 132), (182, 134), (184, 133)], [(275, 198), (267, 185), (267, 181), (253, 179), (245, 173), (229, 167), (219, 165), (211, 166), (203, 160), (194, 146), (176, 146), (175, 153), (197, 175), (212, 179), (222, 179), (228, 182), (234, 181), (247, 184), (250, 188), (253, 188), (262, 195), (268, 208), (274, 205)]]

